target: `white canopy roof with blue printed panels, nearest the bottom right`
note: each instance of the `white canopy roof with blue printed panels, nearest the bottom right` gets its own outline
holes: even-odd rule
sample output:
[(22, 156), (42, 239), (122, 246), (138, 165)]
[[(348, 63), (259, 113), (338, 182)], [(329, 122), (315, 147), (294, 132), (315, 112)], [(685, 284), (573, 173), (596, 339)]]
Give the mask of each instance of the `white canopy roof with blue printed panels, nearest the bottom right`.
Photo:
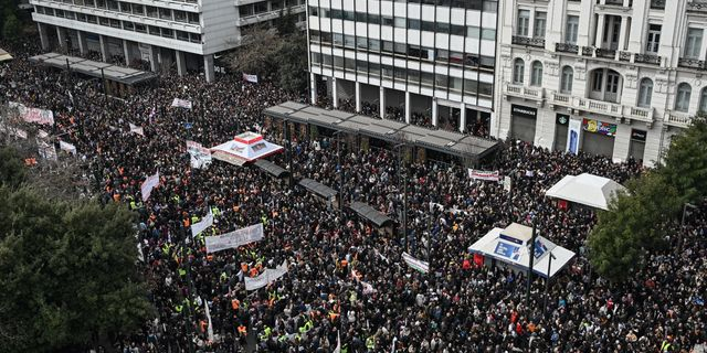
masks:
[[(529, 243), (531, 234), (532, 229), (530, 227), (513, 223), (505, 229), (490, 229), (474, 245), (469, 246), (468, 250), (527, 270), (530, 267)], [(516, 237), (517, 235), (520, 235), (520, 237)], [(550, 254), (553, 256), (550, 264), (550, 277), (555, 276), (574, 257), (573, 252), (548, 240), (544, 236), (536, 237), (535, 254), (532, 271), (546, 278), (548, 277)]]

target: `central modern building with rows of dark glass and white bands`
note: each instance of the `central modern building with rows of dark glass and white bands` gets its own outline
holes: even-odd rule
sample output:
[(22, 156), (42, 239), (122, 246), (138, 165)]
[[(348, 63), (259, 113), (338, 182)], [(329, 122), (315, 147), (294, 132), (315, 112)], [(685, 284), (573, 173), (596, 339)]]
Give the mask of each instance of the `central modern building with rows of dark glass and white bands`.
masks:
[[(494, 109), (497, 0), (308, 0), (312, 100), (471, 130)], [(326, 84), (325, 84), (326, 83)], [(378, 113), (378, 111), (377, 111)]]

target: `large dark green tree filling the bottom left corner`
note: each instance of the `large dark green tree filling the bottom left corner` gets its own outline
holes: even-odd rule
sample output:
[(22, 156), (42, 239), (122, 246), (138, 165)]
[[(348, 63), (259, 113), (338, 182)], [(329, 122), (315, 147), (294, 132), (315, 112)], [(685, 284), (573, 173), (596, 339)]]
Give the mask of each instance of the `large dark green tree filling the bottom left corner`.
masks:
[(125, 207), (29, 188), (0, 189), (0, 352), (107, 346), (151, 313)]

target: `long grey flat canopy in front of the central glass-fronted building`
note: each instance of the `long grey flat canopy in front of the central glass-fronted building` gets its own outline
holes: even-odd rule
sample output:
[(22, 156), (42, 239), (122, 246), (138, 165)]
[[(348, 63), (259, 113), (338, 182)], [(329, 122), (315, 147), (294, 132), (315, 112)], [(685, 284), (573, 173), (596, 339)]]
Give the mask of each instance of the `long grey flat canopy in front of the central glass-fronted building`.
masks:
[(328, 110), (295, 101), (286, 101), (266, 108), (264, 114), (275, 119), (358, 133), (388, 142), (398, 143), (404, 140), (411, 146), (473, 160), (482, 159), (499, 147), (498, 141), (475, 136), (446, 130), (432, 130), (393, 120), (373, 119), (362, 115)]

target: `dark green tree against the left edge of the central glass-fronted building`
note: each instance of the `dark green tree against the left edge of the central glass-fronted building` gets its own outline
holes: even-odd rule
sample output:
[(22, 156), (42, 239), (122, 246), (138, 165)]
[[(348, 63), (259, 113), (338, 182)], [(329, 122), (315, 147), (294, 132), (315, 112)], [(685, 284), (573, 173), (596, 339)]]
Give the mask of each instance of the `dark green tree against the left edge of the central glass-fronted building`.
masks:
[(279, 87), (289, 92), (307, 89), (307, 38), (304, 33), (289, 35), (277, 57), (288, 58), (281, 61), (277, 68)]

